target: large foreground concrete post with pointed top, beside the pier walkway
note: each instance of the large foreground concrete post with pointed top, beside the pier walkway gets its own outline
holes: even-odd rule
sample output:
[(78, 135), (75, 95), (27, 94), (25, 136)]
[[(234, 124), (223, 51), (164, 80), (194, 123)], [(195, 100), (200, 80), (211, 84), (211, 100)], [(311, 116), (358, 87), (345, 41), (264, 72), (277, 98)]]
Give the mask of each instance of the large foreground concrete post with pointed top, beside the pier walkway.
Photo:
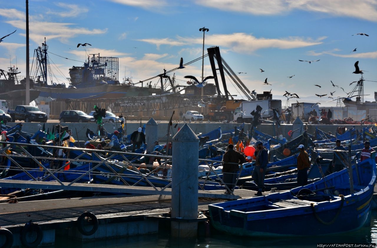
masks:
[[(199, 138), (186, 124), (172, 139), (172, 218), (198, 218)], [(173, 237), (196, 237), (198, 222), (172, 221)]]

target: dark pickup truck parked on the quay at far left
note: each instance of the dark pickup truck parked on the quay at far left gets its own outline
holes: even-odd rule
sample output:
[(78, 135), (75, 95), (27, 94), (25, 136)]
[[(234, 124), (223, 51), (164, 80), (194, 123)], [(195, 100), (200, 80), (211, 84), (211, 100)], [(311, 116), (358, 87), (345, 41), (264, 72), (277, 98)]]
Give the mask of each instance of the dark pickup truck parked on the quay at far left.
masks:
[(16, 120), (25, 122), (47, 122), (47, 114), (34, 106), (17, 105), (15, 110), (8, 110), (8, 113), (12, 118), (11, 122)]

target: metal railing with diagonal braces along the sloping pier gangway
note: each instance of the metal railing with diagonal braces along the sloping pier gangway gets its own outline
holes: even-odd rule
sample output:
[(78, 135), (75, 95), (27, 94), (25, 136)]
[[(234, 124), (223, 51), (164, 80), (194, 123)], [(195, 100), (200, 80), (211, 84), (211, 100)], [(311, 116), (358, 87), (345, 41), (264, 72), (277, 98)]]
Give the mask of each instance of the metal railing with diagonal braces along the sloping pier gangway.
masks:
[[(6, 189), (32, 188), (171, 195), (171, 156), (14, 142), (0, 142), (0, 145), (3, 147), (0, 149), (2, 194)], [(38, 150), (39, 155), (33, 150)], [(64, 152), (59, 153), (59, 150)], [(161, 165), (135, 163), (141, 156), (161, 159)], [(199, 163), (208, 165), (208, 169), (199, 169), (199, 175), (217, 175), (224, 185), (218, 175), (221, 171), (215, 169), (221, 161), (199, 159)], [(206, 183), (207, 180), (201, 181), (198, 188), (204, 189)], [(217, 195), (200, 191), (199, 197), (213, 197), (214, 194)]]

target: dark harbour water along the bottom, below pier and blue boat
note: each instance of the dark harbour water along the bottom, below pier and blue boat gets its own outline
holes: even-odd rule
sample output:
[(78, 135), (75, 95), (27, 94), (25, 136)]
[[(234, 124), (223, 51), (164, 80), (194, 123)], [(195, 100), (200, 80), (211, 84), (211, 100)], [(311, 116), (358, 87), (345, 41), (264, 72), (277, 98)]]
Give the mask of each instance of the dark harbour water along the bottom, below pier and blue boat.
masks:
[[(305, 225), (305, 223), (301, 223)], [(297, 226), (297, 228), (300, 228)], [(211, 229), (210, 236), (202, 239), (170, 238), (169, 231), (159, 234), (130, 236), (124, 238), (102, 239), (90, 242), (78, 242), (59, 237), (54, 246), (46, 248), (228, 248), (228, 247), (264, 247), (264, 248), (314, 248), (318, 244), (340, 244), (328, 247), (366, 247), (356, 244), (377, 243), (377, 210), (372, 212), (371, 226), (363, 227), (358, 231), (344, 234), (330, 234), (326, 236), (287, 237), (287, 238), (254, 238), (236, 237), (219, 233)], [(352, 245), (352, 246), (351, 246)], [(322, 246), (323, 247), (323, 246)], [(373, 247), (373, 246), (370, 246)]]

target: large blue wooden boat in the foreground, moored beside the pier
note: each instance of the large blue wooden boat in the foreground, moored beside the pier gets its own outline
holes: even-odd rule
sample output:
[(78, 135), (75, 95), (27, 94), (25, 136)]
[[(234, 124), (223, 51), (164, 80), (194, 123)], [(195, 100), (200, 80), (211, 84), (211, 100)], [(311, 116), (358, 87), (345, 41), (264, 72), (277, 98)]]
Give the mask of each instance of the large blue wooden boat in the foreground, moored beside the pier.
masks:
[[(238, 236), (313, 236), (355, 231), (370, 224), (376, 183), (375, 152), (307, 186), (208, 206), (213, 227)], [(369, 223), (368, 223), (369, 222)]]

